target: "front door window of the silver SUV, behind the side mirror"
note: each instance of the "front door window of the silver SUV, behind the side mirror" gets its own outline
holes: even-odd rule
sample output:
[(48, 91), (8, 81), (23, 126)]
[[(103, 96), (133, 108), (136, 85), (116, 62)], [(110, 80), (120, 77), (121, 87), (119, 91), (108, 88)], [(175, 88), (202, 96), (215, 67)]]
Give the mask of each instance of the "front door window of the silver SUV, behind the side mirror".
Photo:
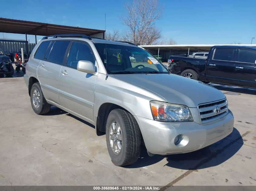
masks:
[(67, 65), (76, 68), (79, 60), (88, 60), (95, 64), (95, 58), (88, 45), (73, 42), (68, 54)]

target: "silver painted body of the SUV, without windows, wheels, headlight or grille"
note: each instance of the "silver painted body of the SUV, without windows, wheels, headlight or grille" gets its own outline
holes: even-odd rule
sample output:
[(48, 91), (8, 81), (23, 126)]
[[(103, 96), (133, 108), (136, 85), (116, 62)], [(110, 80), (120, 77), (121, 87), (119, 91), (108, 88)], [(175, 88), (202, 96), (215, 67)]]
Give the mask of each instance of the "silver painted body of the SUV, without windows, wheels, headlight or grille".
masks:
[[(41, 40), (31, 53), (24, 80), (28, 87), (29, 78), (36, 78), (48, 103), (93, 125), (96, 125), (102, 104), (113, 103), (123, 107), (137, 120), (146, 148), (153, 154), (194, 151), (217, 142), (232, 132), (234, 118), (229, 110), (222, 118), (201, 124), (198, 105), (225, 98), (216, 88), (172, 74), (118, 74), (107, 77), (94, 43), (133, 45), (100, 39), (67, 39), (85, 41), (91, 46), (96, 58), (95, 73), (87, 74), (75, 68), (55, 66), (54, 63), (34, 59), (36, 49), (45, 41)], [(40, 68), (41, 62), (45, 65), (44, 69)], [(67, 75), (61, 71), (65, 71)], [(155, 121), (150, 108), (151, 100), (186, 105), (194, 121)], [(183, 136), (184, 141), (181, 145), (174, 144), (177, 135)]]

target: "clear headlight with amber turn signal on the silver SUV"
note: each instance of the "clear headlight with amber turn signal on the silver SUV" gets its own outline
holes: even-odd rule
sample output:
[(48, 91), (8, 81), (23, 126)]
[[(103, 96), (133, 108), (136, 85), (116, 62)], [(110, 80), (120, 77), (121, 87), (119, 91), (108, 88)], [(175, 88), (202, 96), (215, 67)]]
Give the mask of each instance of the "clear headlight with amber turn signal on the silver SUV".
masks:
[(165, 122), (193, 121), (189, 108), (185, 105), (151, 101), (151, 111), (155, 120)]

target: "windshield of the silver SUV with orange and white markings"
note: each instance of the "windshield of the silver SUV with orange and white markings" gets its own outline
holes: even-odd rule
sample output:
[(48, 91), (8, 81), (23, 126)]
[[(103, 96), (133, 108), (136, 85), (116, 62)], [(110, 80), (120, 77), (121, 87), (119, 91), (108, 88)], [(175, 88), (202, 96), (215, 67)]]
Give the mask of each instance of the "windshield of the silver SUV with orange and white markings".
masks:
[(165, 67), (142, 48), (115, 44), (95, 44), (98, 53), (110, 74), (168, 74)]

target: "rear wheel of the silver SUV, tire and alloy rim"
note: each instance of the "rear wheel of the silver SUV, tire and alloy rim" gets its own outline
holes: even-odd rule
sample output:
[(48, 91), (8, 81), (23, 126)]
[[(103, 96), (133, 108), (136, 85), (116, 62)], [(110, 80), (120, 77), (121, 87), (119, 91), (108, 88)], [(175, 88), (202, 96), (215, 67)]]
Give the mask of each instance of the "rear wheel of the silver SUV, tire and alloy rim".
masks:
[(30, 91), (30, 102), (34, 112), (38, 115), (48, 113), (51, 105), (46, 102), (40, 84), (34, 83)]

